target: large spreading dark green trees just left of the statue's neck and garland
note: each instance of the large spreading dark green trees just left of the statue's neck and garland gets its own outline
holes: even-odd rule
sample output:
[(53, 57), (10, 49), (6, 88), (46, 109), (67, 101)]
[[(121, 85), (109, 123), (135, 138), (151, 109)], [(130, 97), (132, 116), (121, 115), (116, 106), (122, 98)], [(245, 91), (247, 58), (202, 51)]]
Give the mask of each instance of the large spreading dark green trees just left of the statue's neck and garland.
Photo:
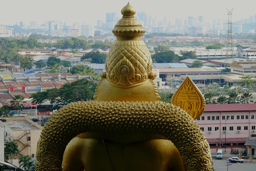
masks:
[(31, 95), (33, 103), (42, 104), (49, 100), (52, 104), (68, 104), (70, 102), (93, 100), (97, 84), (87, 79), (67, 83), (57, 89), (48, 89)]

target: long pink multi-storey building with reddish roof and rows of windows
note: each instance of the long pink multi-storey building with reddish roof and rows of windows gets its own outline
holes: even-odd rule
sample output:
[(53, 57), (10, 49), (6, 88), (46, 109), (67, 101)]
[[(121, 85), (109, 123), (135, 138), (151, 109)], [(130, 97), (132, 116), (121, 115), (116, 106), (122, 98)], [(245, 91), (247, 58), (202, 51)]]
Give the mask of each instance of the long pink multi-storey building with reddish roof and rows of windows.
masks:
[(211, 147), (245, 146), (246, 139), (256, 134), (256, 104), (206, 104), (196, 122)]

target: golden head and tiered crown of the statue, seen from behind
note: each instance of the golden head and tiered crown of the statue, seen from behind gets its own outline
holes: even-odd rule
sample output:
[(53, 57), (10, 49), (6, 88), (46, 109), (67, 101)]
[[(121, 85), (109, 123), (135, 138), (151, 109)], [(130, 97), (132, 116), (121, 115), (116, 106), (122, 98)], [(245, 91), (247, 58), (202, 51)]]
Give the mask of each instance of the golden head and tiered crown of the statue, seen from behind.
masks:
[(141, 40), (146, 32), (135, 19), (135, 9), (128, 3), (123, 17), (112, 33), (117, 37), (106, 59), (106, 73), (101, 74), (94, 100), (150, 101), (160, 100), (153, 80), (153, 62), (148, 47)]

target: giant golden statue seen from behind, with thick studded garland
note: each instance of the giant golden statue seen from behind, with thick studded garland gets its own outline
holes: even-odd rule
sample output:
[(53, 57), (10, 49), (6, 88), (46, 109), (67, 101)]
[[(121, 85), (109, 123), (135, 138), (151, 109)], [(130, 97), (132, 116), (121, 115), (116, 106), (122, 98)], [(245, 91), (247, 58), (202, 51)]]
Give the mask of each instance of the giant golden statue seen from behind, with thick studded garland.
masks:
[(194, 119), (205, 102), (187, 77), (161, 102), (146, 32), (128, 3), (112, 33), (94, 100), (74, 102), (45, 124), (38, 171), (212, 171), (209, 143)]

